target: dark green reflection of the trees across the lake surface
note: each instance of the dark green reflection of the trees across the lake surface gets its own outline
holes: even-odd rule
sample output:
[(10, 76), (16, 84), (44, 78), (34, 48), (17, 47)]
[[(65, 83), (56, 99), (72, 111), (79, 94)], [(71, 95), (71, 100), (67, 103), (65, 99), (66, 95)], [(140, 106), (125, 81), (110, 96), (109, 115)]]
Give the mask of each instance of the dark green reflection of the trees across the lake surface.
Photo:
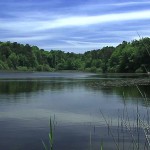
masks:
[[(30, 80), (0, 80), (0, 97), (4, 95), (14, 96), (14, 100), (18, 99), (17, 95), (24, 94), (26, 97), (31, 97), (33, 94), (44, 91), (64, 91), (66, 89), (73, 90), (76, 88), (86, 89), (89, 91), (100, 91), (106, 95), (119, 95), (120, 100), (126, 101), (141, 101), (145, 104), (141, 93), (147, 97), (148, 104), (150, 103), (150, 86), (139, 86), (141, 93), (136, 86), (102, 86), (97, 84), (99, 80), (78, 80), (78, 79), (30, 79)], [(9, 99), (7, 99), (9, 100)]]

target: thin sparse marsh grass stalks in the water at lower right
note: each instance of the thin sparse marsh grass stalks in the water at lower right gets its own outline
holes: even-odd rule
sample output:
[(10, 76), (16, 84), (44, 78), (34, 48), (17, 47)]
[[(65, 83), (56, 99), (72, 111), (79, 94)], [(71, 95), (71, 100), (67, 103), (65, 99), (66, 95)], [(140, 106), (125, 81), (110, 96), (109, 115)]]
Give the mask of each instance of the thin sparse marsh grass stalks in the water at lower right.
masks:
[[(146, 94), (142, 93), (138, 86), (137, 90), (141, 94), (143, 101), (147, 104), (148, 99)], [(150, 150), (149, 107), (146, 105), (145, 113), (140, 114), (138, 99), (136, 103), (136, 110), (133, 110), (132, 114), (134, 118), (131, 119), (124, 98), (124, 109), (122, 112), (118, 110), (115, 132), (113, 123), (110, 124), (109, 118), (107, 118), (100, 110), (101, 116), (104, 119), (110, 136), (112, 137), (116, 150)], [(126, 143), (127, 140), (131, 141), (128, 145)]]

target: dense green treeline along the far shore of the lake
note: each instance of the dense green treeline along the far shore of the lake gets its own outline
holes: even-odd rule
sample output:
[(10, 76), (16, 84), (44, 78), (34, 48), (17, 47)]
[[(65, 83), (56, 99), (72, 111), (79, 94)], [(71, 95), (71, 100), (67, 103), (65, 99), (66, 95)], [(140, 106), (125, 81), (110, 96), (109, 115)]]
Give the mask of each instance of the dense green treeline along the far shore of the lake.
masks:
[(87, 51), (84, 54), (45, 51), (17, 42), (0, 42), (0, 70), (90, 72), (146, 72), (150, 70), (150, 38), (123, 41), (117, 47)]

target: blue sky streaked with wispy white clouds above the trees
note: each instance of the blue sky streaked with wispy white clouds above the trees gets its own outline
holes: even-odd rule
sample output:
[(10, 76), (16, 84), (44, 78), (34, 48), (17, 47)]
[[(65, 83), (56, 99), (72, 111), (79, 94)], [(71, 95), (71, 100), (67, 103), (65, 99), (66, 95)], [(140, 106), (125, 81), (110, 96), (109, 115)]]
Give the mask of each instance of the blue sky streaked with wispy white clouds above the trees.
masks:
[(150, 0), (0, 0), (0, 41), (84, 53), (150, 37)]

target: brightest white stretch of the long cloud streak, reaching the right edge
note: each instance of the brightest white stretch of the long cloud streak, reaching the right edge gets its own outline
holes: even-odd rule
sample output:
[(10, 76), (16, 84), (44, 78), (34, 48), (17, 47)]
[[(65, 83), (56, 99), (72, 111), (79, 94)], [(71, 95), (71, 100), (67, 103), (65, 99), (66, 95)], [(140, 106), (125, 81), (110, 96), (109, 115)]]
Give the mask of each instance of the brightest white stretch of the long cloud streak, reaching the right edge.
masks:
[(137, 12), (127, 12), (120, 14), (106, 14), (97, 16), (73, 16), (54, 20), (52, 22), (45, 21), (40, 29), (50, 29), (68, 26), (85, 26), (92, 24), (102, 24), (107, 22), (119, 22), (128, 20), (144, 20), (150, 19), (150, 10), (137, 11)]

